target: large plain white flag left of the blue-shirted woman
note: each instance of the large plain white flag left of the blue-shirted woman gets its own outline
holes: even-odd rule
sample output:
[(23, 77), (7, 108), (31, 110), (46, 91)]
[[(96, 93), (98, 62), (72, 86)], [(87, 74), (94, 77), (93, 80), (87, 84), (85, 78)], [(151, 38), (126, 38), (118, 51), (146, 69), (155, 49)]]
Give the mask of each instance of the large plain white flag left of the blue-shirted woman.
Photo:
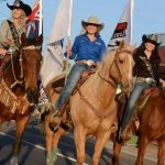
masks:
[(70, 35), (70, 12), (73, 0), (61, 0), (56, 12), (46, 52), (41, 68), (41, 80), (45, 87), (54, 77), (63, 72), (63, 42)]

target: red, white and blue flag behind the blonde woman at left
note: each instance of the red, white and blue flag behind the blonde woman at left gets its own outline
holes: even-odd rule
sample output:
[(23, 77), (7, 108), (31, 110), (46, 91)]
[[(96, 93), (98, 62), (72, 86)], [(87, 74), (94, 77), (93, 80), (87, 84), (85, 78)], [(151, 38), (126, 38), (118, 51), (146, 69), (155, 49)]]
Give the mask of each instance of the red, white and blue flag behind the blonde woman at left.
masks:
[(32, 13), (26, 21), (26, 36), (36, 38), (40, 34), (42, 34), (42, 0), (35, 0)]

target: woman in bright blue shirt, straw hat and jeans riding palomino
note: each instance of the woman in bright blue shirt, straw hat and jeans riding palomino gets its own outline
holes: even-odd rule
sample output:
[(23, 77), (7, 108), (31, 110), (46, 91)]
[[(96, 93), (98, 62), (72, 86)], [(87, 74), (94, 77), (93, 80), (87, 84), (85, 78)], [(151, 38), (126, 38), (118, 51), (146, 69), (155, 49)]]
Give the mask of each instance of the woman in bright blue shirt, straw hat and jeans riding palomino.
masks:
[(72, 52), (70, 45), (67, 46), (69, 58), (74, 58), (76, 63), (54, 107), (53, 117), (57, 123), (61, 122), (62, 108), (76, 87), (82, 72), (90, 70), (91, 67), (96, 66), (106, 53), (106, 44), (99, 35), (103, 24), (99, 23), (96, 16), (90, 16), (88, 21), (81, 21), (81, 25), (86, 32), (76, 37)]

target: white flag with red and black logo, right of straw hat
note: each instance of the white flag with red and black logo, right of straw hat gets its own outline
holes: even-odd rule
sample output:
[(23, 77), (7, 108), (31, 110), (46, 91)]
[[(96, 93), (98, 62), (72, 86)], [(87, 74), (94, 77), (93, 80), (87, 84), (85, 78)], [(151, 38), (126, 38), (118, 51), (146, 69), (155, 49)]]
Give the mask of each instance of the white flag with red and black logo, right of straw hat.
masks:
[(108, 50), (113, 50), (119, 46), (120, 41), (124, 41), (127, 44), (132, 42), (132, 18), (133, 18), (133, 2), (129, 0), (128, 4), (114, 29), (114, 32), (108, 44)]

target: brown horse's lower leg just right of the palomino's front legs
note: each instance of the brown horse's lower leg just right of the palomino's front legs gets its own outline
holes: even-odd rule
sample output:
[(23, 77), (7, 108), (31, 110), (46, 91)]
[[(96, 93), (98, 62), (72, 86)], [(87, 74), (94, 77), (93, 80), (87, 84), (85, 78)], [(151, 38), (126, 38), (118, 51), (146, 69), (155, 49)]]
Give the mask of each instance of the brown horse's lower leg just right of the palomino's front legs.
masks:
[(113, 157), (111, 160), (111, 165), (119, 165), (119, 155), (121, 152), (122, 143), (118, 143), (116, 140), (113, 141)]

